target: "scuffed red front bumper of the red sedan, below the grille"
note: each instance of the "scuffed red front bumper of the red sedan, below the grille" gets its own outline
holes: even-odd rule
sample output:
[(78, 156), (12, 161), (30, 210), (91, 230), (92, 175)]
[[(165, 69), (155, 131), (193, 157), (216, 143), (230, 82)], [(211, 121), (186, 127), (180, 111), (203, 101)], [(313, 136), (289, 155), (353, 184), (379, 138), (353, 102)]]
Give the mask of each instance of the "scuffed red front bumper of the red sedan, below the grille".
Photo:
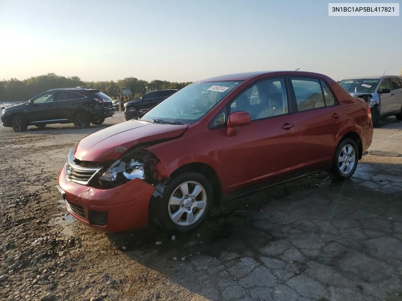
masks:
[(98, 189), (68, 181), (64, 165), (57, 189), (74, 218), (100, 231), (124, 232), (148, 226), (155, 187), (140, 179), (112, 189)]

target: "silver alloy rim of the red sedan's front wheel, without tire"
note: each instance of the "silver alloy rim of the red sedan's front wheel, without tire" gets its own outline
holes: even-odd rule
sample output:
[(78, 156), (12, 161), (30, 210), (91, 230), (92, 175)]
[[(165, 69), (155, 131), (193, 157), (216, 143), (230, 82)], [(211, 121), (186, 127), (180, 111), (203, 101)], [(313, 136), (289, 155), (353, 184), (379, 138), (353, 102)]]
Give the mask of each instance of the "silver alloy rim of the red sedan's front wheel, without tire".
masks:
[(207, 193), (200, 183), (187, 181), (174, 190), (169, 199), (169, 216), (178, 226), (189, 226), (204, 214)]

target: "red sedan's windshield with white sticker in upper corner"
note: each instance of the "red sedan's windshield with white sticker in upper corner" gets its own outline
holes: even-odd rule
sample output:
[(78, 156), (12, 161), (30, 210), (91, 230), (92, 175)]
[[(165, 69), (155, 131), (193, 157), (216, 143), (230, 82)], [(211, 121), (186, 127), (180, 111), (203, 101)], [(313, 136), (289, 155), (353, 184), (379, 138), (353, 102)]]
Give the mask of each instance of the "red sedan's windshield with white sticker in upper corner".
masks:
[(160, 102), (141, 120), (193, 124), (240, 83), (241, 81), (192, 83)]

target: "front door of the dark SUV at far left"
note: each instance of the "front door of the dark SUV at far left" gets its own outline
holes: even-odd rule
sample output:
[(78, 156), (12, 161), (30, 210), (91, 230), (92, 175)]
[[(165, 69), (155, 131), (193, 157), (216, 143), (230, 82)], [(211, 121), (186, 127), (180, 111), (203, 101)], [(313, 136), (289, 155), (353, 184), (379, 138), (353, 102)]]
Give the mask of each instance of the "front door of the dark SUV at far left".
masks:
[(29, 104), (28, 121), (31, 123), (56, 119), (54, 116), (54, 92), (43, 93)]

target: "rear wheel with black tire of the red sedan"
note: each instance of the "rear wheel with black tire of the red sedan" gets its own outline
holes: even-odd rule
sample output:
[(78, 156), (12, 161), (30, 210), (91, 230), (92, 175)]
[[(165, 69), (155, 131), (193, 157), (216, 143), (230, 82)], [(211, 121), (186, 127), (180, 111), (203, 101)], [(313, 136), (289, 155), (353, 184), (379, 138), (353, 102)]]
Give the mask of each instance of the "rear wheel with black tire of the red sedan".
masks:
[(336, 148), (331, 173), (338, 180), (349, 179), (357, 168), (359, 161), (359, 149), (356, 142), (347, 138), (342, 140)]

